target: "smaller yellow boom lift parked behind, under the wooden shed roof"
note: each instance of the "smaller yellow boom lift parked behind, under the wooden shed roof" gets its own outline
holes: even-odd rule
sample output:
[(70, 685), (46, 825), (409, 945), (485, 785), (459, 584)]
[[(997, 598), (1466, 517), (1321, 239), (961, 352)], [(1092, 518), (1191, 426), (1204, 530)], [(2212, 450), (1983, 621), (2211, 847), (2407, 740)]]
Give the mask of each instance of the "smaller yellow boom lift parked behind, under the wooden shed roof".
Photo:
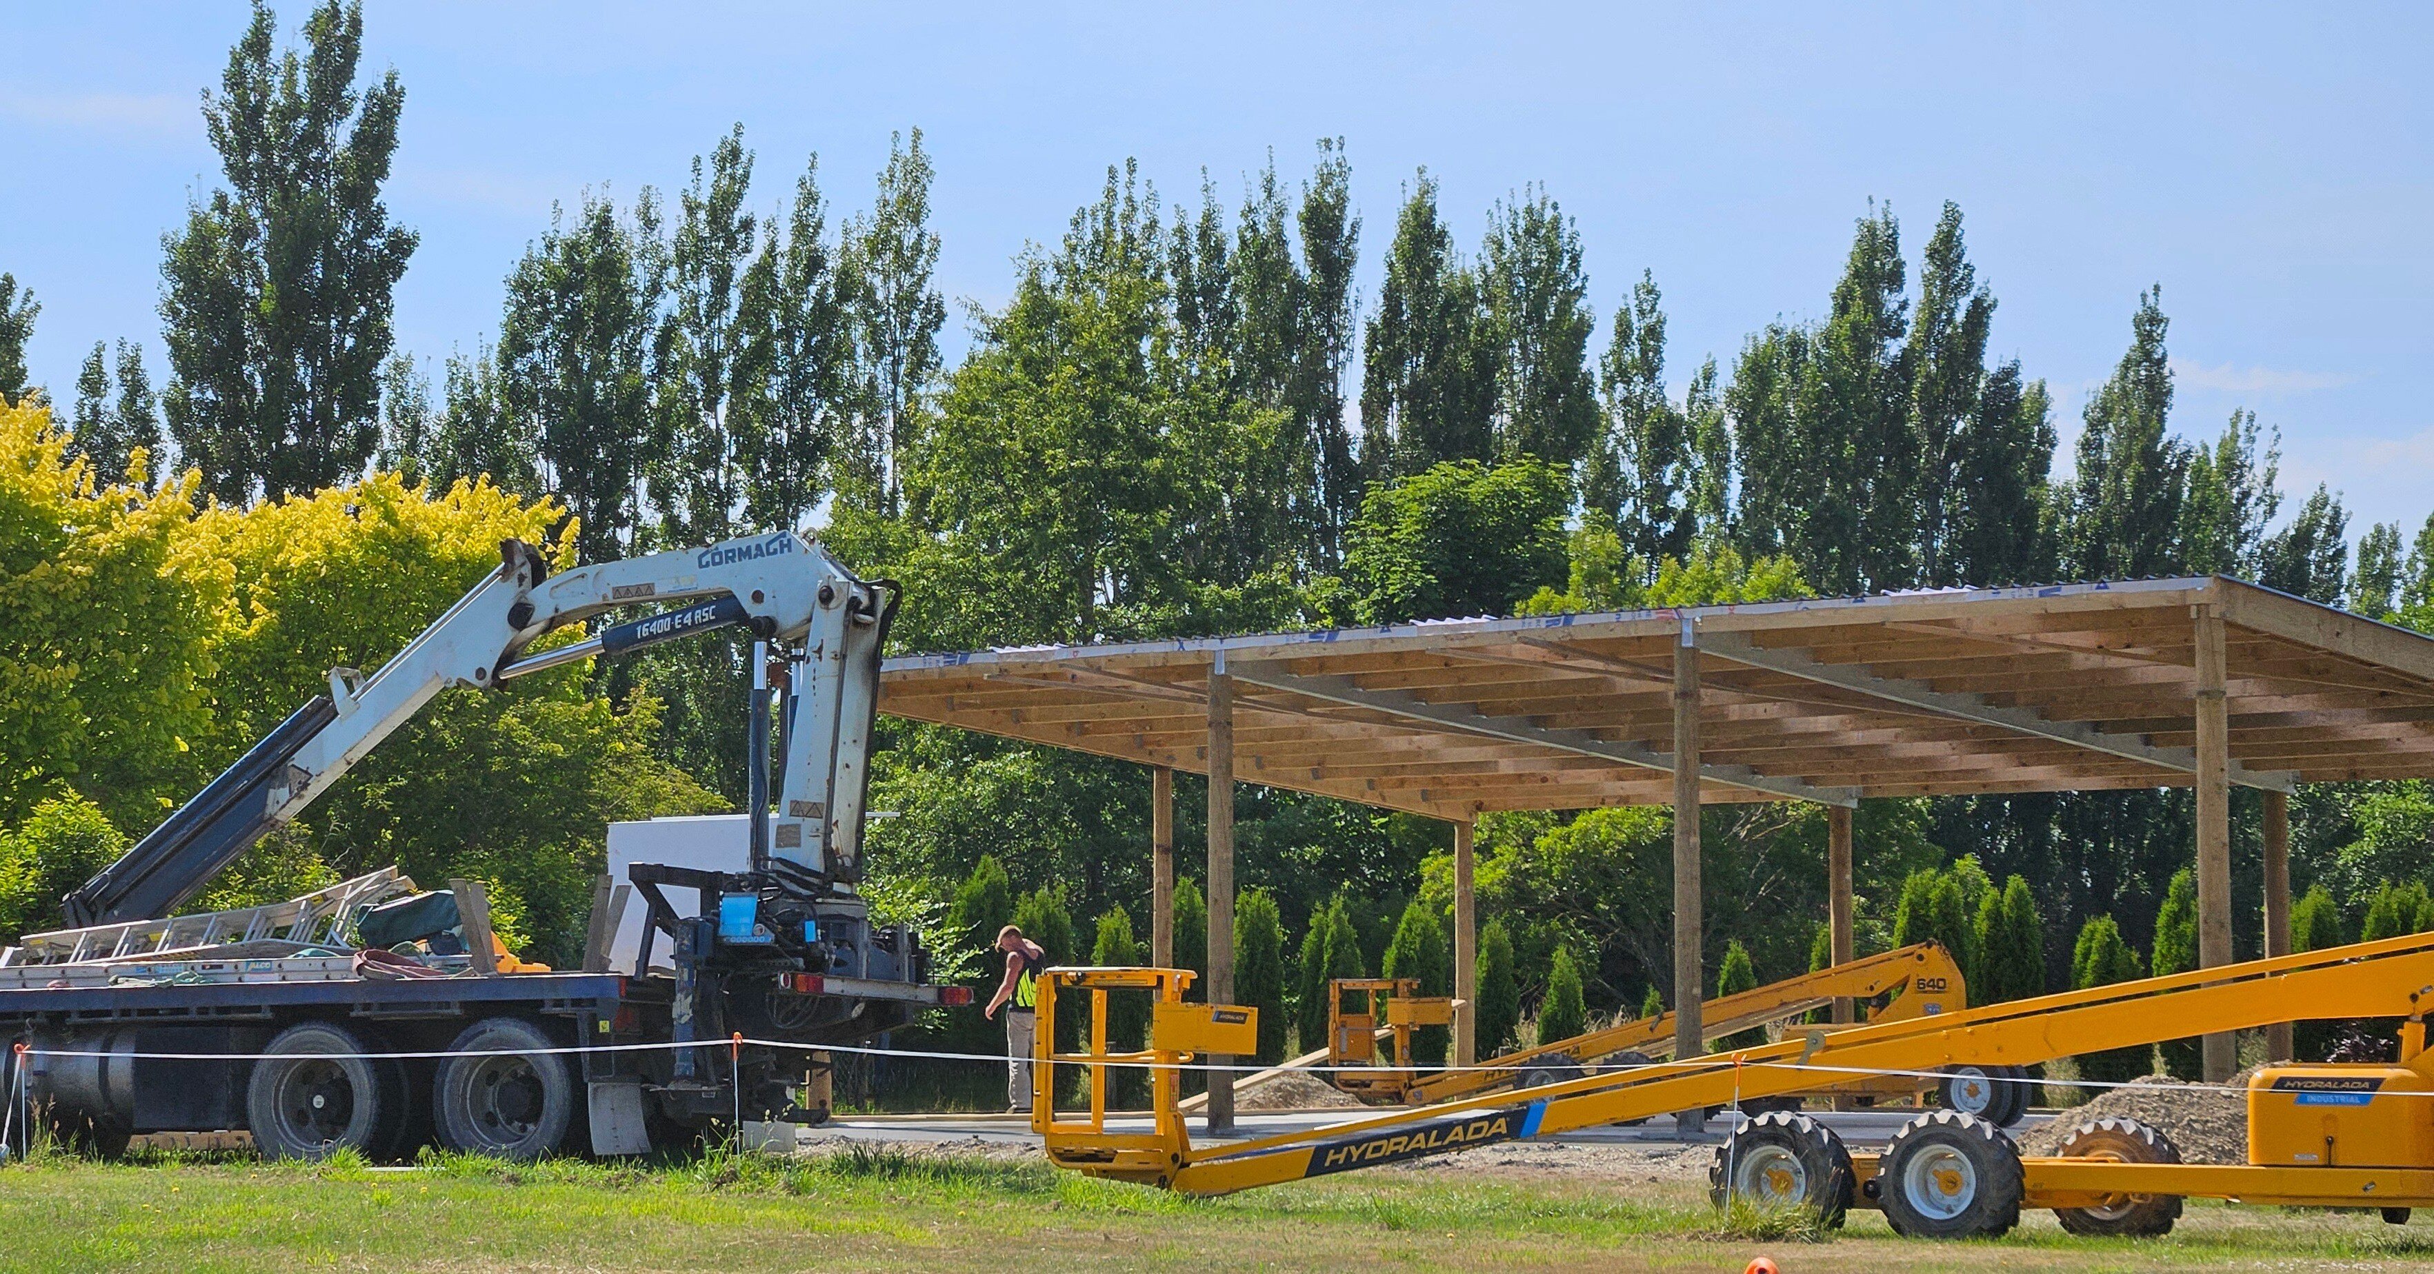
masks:
[[(1453, 1021), (1451, 997), (1424, 997), (1419, 994), (1419, 982), (1412, 977), (1336, 977), (1331, 992), (1327, 1031), (1329, 1079), (1370, 1104), (1436, 1106), (1438, 1101), (1482, 1092), (1536, 1089), (1580, 1079), (1582, 1075), (1643, 1067), (1658, 1058), (1670, 1058), (1675, 1048), (1675, 1014), (1665, 1011), (1504, 1053), (1502, 1058), (1480, 1062), (1475, 1070), (1426, 1075), (1397, 1070), (1397, 1065), (1409, 1065), (1412, 1033), (1419, 1026), (1446, 1026)], [(1864, 1014), (1862, 1021), (1881, 1024), (1962, 1011), (1969, 1007), (1969, 990), (1959, 965), (1942, 943), (1911, 943), (1881, 956), (1864, 956), (1740, 994), (1709, 999), (1699, 1007), (1699, 1024), (1701, 1033), (1714, 1041), (1796, 1019), (1835, 999), (1852, 999), (1857, 1011)], [(1317, 1058), (1312, 1055), (1312, 1060)], [(1828, 1077), (1818, 1077), (1801, 1094), (1770, 1097), (1765, 1104), (1752, 1101), (1745, 1109), (1799, 1109), (1801, 1097), (1857, 1097), (1877, 1101), (1935, 1092), (1945, 1106), (2008, 1128), (2028, 1114), (2030, 1084), (2023, 1079), (2025, 1072), (2003, 1065), (1955, 1065), (1942, 1075), (1867, 1075), (1830, 1082)]]

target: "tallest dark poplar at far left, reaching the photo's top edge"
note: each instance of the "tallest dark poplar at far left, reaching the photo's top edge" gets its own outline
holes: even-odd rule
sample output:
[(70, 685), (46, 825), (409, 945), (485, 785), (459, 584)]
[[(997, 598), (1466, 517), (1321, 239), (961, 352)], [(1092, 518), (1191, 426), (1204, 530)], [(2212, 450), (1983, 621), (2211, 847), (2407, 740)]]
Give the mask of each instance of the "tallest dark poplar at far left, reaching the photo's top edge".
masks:
[(397, 73), (358, 88), (360, 2), (304, 19), (309, 56), (273, 56), (256, 2), (202, 117), (226, 190), (163, 238), (168, 430), (221, 501), (316, 491), (380, 440), (392, 289), (416, 236), (380, 187), (397, 151)]

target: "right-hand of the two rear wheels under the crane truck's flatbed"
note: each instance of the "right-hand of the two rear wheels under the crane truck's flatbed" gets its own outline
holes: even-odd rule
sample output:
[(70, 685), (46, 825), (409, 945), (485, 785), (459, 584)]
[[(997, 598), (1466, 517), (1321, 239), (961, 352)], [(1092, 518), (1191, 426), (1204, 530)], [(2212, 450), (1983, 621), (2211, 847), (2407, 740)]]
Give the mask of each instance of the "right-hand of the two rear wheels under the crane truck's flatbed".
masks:
[(494, 1016), (465, 1028), (431, 1079), (431, 1121), (441, 1145), (501, 1160), (538, 1160), (567, 1140), (574, 1077), (540, 1026)]

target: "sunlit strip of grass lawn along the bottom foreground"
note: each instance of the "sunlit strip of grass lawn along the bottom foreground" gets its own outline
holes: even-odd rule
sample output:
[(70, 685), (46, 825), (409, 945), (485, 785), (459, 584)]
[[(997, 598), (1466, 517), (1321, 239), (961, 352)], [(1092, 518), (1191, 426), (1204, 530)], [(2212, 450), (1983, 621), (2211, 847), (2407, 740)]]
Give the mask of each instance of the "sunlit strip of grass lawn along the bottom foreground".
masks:
[(2434, 1225), (2191, 1203), (2166, 1240), (1908, 1242), (1852, 1213), (1826, 1242), (1714, 1235), (1687, 1184), (1365, 1172), (1178, 1199), (1047, 1167), (706, 1160), (667, 1169), (275, 1167), (226, 1157), (0, 1169), (0, 1269), (2434, 1269)]

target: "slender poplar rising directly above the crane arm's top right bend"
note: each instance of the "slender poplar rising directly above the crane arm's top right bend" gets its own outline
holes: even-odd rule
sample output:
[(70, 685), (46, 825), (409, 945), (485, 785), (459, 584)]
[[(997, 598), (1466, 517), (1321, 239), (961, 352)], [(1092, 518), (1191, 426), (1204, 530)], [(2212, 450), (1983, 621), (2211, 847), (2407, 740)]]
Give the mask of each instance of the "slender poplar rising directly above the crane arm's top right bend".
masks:
[(925, 394), (940, 372), (937, 331), (947, 299), (937, 292), (940, 236), (930, 229), (930, 182), (937, 170), (913, 136), (888, 134), (871, 212), (845, 229), (845, 277), (852, 304), (859, 430), (847, 472), (864, 501), (893, 518), (903, 508), (903, 452), (915, 445)]

